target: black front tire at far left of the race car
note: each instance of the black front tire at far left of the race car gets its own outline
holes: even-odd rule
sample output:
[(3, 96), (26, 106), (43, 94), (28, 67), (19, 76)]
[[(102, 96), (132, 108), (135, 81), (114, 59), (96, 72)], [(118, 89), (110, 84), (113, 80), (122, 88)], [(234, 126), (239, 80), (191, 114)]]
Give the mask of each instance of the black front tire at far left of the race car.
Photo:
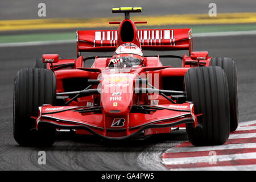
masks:
[(56, 98), (56, 78), (47, 69), (21, 69), (14, 80), (13, 134), (22, 146), (51, 146), (55, 129), (48, 127), (35, 129), (38, 107), (54, 104)]

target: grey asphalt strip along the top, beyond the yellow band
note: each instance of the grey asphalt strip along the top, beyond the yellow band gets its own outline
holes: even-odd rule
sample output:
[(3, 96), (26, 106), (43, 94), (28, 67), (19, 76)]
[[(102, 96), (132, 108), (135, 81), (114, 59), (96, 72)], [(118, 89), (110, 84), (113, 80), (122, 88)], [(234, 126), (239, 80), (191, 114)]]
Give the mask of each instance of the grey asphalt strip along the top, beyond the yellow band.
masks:
[(209, 3), (216, 3), (217, 13), (255, 12), (254, 0), (22, 0), (0, 1), (0, 19), (43, 19), (38, 16), (38, 4), (46, 4), (43, 18), (95, 18), (117, 16), (112, 7), (142, 7), (141, 15), (207, 14)]

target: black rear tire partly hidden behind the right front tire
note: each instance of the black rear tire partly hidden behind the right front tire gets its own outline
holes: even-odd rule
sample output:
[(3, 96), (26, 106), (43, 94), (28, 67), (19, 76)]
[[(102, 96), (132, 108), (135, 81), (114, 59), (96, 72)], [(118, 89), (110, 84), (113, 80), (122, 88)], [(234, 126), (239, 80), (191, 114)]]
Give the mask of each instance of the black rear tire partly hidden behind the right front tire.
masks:
[(212, 57), (210, 65), (221, 67), (226, 73), (229, 85), (230, 131), (238, 127), (237, 68), (229, 57)]

